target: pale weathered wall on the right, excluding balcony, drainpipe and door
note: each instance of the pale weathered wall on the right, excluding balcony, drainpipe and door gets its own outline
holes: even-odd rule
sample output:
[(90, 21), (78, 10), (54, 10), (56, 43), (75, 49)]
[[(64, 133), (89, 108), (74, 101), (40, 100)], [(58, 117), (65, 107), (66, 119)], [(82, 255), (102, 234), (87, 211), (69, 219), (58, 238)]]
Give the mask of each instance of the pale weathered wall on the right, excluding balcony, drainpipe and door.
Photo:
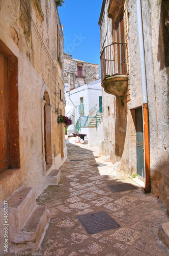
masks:
[[(150, 129), (151, 191), (166, 201), (168, 180), (168, 16), (167, 1), (141, 1), (146, 62)], [(116, 8), (115, 8), (116, 7)], [(99, 19), (100, 49), (116, 41), (115, 22), (124, 8), (128, 89), (124, 105), (118, 98), (103, 92), (104, 154), (112, 163), (121, 162), (124, 172), (137, 173), (135, 109), (142, 108), (142, 77), (136, 1), (103, 1)], [(108, 10), (108, 17), (107, 17)], [(155, 15), (156, 13), (156, 15)]]

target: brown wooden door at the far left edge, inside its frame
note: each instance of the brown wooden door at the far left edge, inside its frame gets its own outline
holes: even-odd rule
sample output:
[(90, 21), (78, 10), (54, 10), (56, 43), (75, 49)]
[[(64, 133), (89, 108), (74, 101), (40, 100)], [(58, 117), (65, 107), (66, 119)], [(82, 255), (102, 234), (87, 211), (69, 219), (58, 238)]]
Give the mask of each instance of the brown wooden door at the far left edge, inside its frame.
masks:
[(8, 59), (0, 54), (0, 173), (9, 168), (7, 61)]

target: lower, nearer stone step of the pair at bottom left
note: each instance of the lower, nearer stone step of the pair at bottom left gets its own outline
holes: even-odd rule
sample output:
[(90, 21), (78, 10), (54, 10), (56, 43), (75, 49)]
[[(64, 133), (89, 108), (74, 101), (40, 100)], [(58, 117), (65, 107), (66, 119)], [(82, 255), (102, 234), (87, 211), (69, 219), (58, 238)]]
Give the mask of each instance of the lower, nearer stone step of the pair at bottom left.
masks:
[(20, 233), (13, 236), (14, 246), (10, 252), (17, 252), (17, 255), (27, 255), (35, 252), (43, 238), (49, 217), (50, 213), (47, 207), (37, 205)]

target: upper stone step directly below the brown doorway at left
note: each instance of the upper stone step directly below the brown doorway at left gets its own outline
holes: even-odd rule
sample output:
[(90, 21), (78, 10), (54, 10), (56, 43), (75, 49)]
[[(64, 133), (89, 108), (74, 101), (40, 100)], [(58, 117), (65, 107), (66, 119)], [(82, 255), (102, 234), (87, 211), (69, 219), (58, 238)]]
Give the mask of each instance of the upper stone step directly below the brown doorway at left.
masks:
[(12, 229), (12, 233), (18, 233), (35, 208), (36, 198), (34, 190), (32, 187), (21, 188), (7, 201), (9, 227)]

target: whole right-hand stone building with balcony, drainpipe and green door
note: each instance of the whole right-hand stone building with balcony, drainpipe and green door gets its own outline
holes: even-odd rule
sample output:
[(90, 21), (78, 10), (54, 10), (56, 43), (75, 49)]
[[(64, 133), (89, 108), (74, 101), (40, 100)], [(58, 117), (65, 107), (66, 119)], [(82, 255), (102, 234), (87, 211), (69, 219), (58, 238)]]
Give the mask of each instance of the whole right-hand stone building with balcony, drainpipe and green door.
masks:
[(164, 202), (169, 196), (168, 5), (104, 0), (99, 19), (102, 150)]

